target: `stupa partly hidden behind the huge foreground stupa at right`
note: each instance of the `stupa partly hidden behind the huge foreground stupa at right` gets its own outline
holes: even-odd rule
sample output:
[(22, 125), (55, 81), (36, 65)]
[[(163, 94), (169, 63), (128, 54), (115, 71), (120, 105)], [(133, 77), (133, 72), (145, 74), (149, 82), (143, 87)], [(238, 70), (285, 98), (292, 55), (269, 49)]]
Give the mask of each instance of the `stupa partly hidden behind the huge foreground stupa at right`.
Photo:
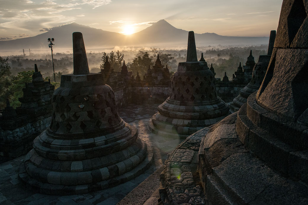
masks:
[(233, 103), (230, 103), (230, 107), (233, 111), (238, 111), (240, 107), (247, 102), (248, 96), (260, 88), (267, 67), (270, 63), (270, 58), (274, 48), (275, 37), (276, 31), (271, 31), (267, 55), (259, 56), (259, 60), (253, 68), (251, 81), (247, 86), (240, 90), (240, 94), (233, 99)]

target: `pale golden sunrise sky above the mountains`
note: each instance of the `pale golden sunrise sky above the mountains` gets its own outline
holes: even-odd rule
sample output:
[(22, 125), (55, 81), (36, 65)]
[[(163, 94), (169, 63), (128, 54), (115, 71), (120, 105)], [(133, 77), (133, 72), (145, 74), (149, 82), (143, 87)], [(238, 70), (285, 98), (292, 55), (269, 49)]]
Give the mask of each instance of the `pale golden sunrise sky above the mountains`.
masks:
[(78, 23), (129, 35), (165, 19), (176, 28), (223, 36), (269, 36), (282, 0), (0, 0), (0, 40)]

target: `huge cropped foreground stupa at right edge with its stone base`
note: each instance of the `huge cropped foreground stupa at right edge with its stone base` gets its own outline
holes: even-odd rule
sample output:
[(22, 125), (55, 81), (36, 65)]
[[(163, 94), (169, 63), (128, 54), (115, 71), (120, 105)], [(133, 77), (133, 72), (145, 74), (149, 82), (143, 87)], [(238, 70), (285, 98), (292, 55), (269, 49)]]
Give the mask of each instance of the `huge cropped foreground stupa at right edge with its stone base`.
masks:
[(209, 204), (308, 203), (307, 10), (306, 0), (283, 1), (261, 87), (203, 138)]

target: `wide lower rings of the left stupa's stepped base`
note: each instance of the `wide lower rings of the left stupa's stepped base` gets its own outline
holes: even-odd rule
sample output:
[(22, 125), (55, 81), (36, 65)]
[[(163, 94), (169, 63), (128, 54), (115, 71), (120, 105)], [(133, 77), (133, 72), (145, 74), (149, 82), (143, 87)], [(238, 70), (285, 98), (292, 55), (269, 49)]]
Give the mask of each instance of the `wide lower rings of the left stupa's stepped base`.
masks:
[(136, 139), (133, 144), (97, 158), (82, 161), (50, 160), (32, 149), (19, 167), (18, 177), (26, 187), (47, 195), (85, 194), (136, 178), (151, 166), (153, 150), (150, 144), (137, 137), (136, 128), (130, 127), (132, 138)]

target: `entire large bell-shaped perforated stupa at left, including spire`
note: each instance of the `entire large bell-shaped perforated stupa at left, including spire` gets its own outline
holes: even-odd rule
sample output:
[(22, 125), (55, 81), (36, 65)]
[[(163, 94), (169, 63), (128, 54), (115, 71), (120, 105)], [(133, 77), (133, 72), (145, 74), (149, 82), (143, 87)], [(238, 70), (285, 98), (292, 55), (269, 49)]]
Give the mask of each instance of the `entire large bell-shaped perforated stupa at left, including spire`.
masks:
[(89, 73), (80, 32), (73, 33), (74, 74), (52, 96), (52, 122), (35, 138), (19, 178), (42, 194), (71, 195), (118, 185), (143, 173), (152, 150), (120, 118), (114, 92)]

